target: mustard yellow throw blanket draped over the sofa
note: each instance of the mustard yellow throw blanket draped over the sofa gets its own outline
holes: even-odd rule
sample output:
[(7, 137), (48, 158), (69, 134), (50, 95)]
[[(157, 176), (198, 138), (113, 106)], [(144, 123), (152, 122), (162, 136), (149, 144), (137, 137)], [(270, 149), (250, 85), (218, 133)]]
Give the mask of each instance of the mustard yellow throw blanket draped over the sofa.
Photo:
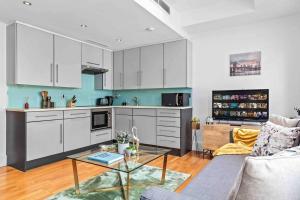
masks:
[(225, 144), (214, 151), (213, 155), (250, 154), (259, 132), (259, 130), (254, 129), (235, 128), (233, 129), (234, 143)]

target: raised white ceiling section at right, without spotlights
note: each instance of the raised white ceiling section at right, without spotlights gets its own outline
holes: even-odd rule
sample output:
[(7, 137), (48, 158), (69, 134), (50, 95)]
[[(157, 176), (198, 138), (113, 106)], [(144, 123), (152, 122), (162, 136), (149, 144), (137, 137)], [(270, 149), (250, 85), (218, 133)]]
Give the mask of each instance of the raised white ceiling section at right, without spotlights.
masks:
[(212, 29), (293, 15), (300, 0), (165, 0), (180, 13), (181, 26), (190, 37)]

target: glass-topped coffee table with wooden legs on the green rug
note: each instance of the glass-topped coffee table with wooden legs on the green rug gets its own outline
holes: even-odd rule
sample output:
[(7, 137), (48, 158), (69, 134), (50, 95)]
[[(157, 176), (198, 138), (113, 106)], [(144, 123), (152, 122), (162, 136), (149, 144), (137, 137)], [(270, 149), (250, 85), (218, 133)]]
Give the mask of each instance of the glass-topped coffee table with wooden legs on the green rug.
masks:
[[(123, 160), (120, 160), (116, 163), (107, 165), (101, 162), (89, 160), (88, 156), (97, 153), (97, 152), (105, 152), (101, 148), (95, 148), (92, 150), (84, 151), (78, 154), (74, 154), (71, 156), (68, 156), (72, 160), (72, 166), (73, 166), (73, 174), (74, 174), (74, 182), (75, 182), (75, 190), (76, 194), (80, 194), (80, 188), (79, 188), (79, 179), (78, 179), (78, 170), (77, 170), (77, 161), (79, 162), (85, 162), (92, 165), (97, 165), (100, 167), (104, 167), (107, 169), (112, 169), (118, 172), (118, 179), (120, 181), (120, 187), (112, 187), (112, 188), (98, 188), (93, 191), (89, 192), (95, 192), (95, 191), (110, 191), (110, 190), (117, 190), (121, 189), (124, 199), (129, 200), (129, 192), (130, 188), (132, 187), (145, 187), (141, 185), (131, 185), (130, 184), (130, 173), (138, 170), (140, 167), (150, 163), (151, 161), (154, 161), (156, 159), (159, 159), (163, 157), (163, 169), (162, 169), (162, 175), (160, 183), (154, 183), (153, 185), (157, 184), (164, 184), (165, 182), (165, 176), (166, 176), (166, 169), (167, 169), (167, 162), (168, 162), (168, 154), (171, 151), (170, 149), (165, 148), (159, 148), (159, 147), (150, 147), (150, 146), (143, 146), (141, 145), (139, 148), (139, 152), (134, 156), (124, 156)], [(115, 150), (106, 151), (106, 152), (115, 152)], [(121, 173), (126, 173), (126, 184), (123, 183), (121, 178)]]

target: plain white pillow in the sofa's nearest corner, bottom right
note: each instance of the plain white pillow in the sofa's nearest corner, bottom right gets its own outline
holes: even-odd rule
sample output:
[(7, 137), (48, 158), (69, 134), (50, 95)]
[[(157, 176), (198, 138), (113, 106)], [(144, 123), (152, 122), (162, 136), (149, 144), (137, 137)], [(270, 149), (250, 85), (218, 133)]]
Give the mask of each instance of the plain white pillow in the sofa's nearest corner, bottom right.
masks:
[(299, 200), (300, 156), (247, 157), (236, 200)]

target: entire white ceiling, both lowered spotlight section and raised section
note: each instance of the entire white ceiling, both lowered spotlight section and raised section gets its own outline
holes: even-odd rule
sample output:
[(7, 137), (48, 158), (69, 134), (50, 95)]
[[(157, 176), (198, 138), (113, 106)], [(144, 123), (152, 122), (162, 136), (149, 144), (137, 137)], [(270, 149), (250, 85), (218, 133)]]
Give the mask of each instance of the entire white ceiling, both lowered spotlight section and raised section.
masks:
[(300, 13), (300, 0), (165, 0), (171, 15), (153, 0), (28, 0), (30, 7), (22, 1), (0, 0), (0, 21), (21, 21), (113, 50)]

